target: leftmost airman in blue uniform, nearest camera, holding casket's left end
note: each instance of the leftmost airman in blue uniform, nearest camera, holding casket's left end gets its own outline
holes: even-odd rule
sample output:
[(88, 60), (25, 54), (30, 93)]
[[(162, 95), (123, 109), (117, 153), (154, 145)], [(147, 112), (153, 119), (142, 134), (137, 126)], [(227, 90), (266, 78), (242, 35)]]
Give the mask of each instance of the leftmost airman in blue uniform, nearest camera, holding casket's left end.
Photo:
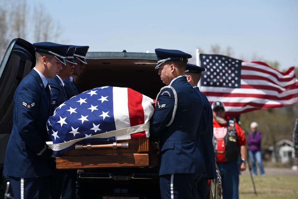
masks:
[[(7, 145), (3, 174), (8, 175), (14, 198), (49, 198), (50, 161), (55, 155), (48, 141), (46, 122), (52, 114), (48, 78), (65, 65), (67, 45), (33, 44), (36, 64), (20, 82), (14, 96), (13, 129)], [(54, 157), (54, 158), (51, 158)]]

